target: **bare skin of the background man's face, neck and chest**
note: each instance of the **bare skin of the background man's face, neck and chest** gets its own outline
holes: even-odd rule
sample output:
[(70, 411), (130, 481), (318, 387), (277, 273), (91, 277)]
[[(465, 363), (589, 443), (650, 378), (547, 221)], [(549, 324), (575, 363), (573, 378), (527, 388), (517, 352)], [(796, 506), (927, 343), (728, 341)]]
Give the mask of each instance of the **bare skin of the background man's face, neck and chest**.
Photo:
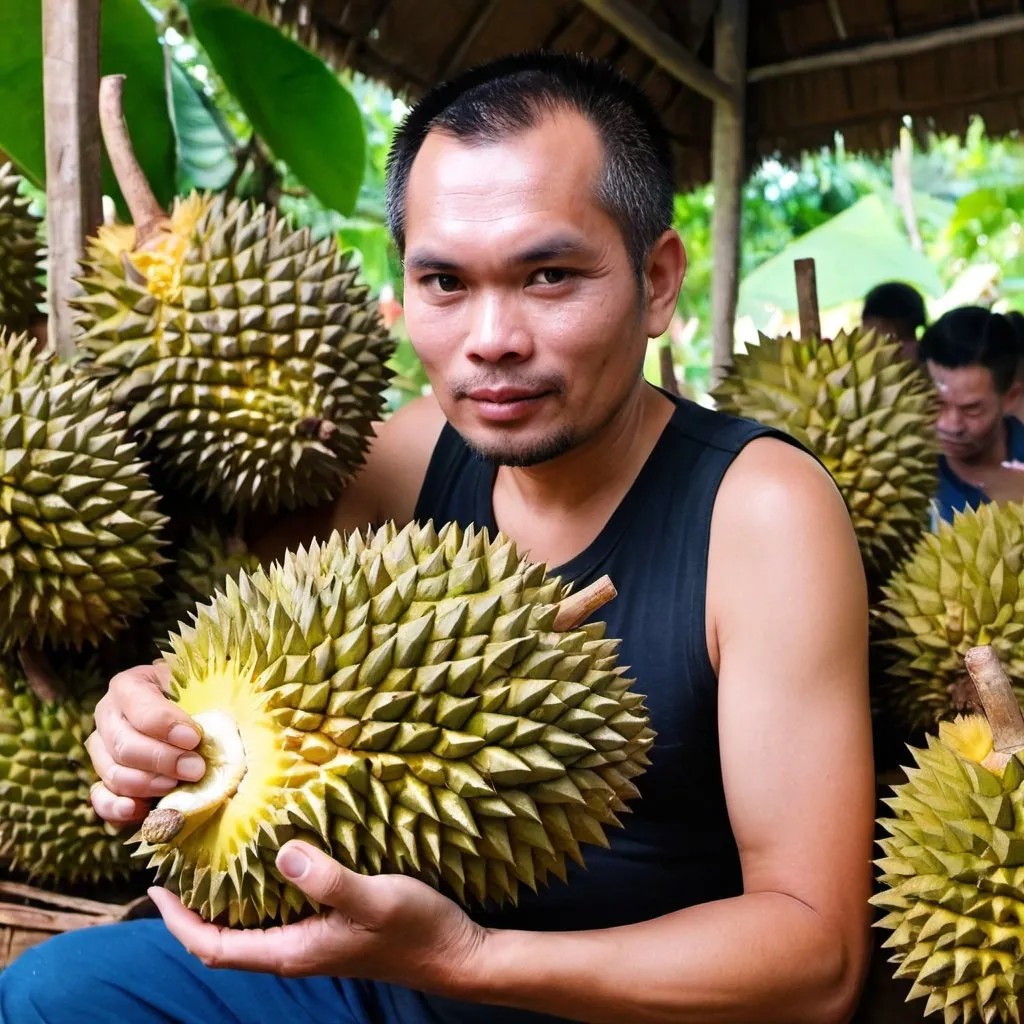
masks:
[(1021, 384), (999, 394), (987, 367), (940, 367), (928, 372), (939, 398), (939, 443), (949, 468), (993, 501), (1024, 498), (1024, 474), (1007, 467), (1006, 417), (1019, 401)]

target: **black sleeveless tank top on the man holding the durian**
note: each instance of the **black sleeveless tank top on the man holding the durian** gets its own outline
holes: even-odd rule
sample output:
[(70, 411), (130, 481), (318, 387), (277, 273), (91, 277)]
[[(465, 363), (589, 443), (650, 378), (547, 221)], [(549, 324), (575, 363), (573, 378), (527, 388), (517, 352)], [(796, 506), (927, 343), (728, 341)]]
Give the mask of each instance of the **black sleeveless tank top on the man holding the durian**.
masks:
[[(729, 825), (718, 738), (718, 680), (708, 653), (705, 594), (712, 509), (736, 455), (756, 437), (792, 438), (749, 420), (672, 398), (675, 413), (640, 474), (596, 540), (550, 571), (582, 589), (608, 573), (618, 596), (595, 618), (621, 639), (621, 664), (645, 694), (657, 736), (651, 764), (635, 779), (623, 828), (609, 847), (583, 848), (586, 869), (549, 879), (518, 905), (471, 909), (490, 928), (562, 931), (610, 928), (742, 891)], [(795, 442), (793, 442), (795, 443)], [(450, 520), (497, 534), (496, 468), (445, 424), (416, 507), (420, 521)], [(494, 1007), (428, 999), (445, 1024), (550, 1020)]]

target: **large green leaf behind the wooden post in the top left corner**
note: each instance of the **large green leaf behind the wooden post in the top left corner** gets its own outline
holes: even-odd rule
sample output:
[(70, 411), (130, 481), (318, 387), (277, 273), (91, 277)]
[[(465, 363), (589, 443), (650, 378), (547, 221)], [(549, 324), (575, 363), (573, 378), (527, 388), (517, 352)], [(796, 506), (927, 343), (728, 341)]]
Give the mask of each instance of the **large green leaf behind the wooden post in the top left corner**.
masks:
[[(46, 181), (42, 0), (0, 0), (0, 150), (36, 184)], [(174, 196), (174, 133), (157, 28), (138, 0), (102, 0), (100, 72), (127, 77), (125, 121), (158, 201)], [(103, 191), (123, 209), (103, 155)]]

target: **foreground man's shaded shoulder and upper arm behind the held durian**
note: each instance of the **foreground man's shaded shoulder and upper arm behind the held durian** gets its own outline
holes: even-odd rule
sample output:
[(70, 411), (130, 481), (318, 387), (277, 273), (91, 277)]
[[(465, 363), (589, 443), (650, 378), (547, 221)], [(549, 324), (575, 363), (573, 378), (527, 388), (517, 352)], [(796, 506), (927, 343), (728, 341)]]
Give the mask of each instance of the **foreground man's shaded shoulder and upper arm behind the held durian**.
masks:
[(379, 526), (389, 519), (408, 522), (444, 425), (444, 414), (432, 395), (416, 398), (374, 425), (365, 464), (334, 502), (287, 512), (253, 539), (263, 562), (313, 539)]

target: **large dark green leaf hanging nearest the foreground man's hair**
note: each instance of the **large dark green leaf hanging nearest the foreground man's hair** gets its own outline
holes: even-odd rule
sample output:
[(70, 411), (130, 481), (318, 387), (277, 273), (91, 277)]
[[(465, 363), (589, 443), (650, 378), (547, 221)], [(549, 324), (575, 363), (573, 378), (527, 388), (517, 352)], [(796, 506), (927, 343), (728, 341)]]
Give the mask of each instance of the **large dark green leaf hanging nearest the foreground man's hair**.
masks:
[(256, 133), (325, 205), (351, 213), (366, 160), (362, 116), (317, 56), (229, 0), (184, 0), (193, 32)]

